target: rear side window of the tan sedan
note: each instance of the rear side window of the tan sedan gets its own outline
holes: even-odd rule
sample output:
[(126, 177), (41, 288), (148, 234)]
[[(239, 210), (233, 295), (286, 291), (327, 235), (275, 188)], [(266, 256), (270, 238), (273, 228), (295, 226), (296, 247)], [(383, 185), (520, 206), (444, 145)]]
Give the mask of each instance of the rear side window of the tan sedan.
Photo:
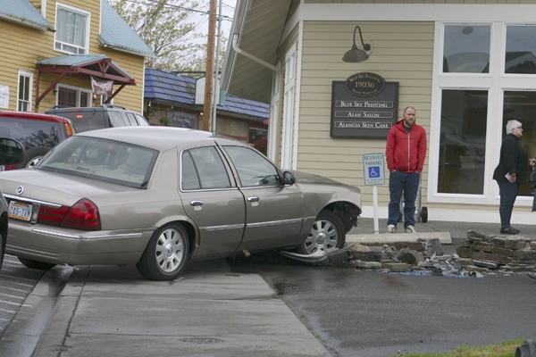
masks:
[(214, 146), (185, 150), (181, 155), (182, 189), (229, 188), (230, 179)]

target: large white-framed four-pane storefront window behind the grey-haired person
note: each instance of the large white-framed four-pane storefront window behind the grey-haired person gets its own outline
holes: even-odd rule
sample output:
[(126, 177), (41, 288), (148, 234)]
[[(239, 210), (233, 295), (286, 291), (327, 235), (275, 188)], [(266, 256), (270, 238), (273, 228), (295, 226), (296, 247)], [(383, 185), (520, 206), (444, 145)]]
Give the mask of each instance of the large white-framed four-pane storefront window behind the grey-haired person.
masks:
[[(491, 176), (508, 120), (522, 122), (521, 143), (536, 155), (536, 24), (439, 29), (431, 120), (431, 142), (439, 145), (431, 149), (429, 200), (495, 204)], [(530, 186), (519, 195), (531, 196)]]

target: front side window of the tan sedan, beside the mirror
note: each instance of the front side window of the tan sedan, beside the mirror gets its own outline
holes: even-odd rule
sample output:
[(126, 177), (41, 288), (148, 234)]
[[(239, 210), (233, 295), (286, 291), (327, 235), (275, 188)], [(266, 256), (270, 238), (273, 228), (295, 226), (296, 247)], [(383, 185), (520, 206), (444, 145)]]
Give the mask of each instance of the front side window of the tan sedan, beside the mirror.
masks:
[(242, 186), (275, 186), (280, 184), (278, 170), (262, 154), (243, 146), (224, 146), (236, 168)]

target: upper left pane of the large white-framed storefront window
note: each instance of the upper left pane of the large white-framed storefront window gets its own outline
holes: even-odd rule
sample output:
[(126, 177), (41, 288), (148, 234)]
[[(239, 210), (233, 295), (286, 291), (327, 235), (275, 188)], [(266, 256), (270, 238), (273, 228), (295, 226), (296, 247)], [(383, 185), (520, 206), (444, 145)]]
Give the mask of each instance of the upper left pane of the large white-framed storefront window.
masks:
[(490, 26), (445, 26), (444, 73), (489, 73)]

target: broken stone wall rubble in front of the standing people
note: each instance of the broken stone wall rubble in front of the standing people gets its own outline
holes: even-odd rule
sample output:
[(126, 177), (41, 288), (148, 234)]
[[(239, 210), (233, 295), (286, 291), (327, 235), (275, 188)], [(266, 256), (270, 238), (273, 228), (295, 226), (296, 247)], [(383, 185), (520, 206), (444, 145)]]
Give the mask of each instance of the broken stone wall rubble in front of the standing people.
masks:
[(470, 230), (454, 254), (443, 254), (439, 238), (418, 238), (392, 245), (352, 245), (348, 260), (338, 264), (383, 272), (479, 278), (494, 272), (536, 271), (536, 241)]

